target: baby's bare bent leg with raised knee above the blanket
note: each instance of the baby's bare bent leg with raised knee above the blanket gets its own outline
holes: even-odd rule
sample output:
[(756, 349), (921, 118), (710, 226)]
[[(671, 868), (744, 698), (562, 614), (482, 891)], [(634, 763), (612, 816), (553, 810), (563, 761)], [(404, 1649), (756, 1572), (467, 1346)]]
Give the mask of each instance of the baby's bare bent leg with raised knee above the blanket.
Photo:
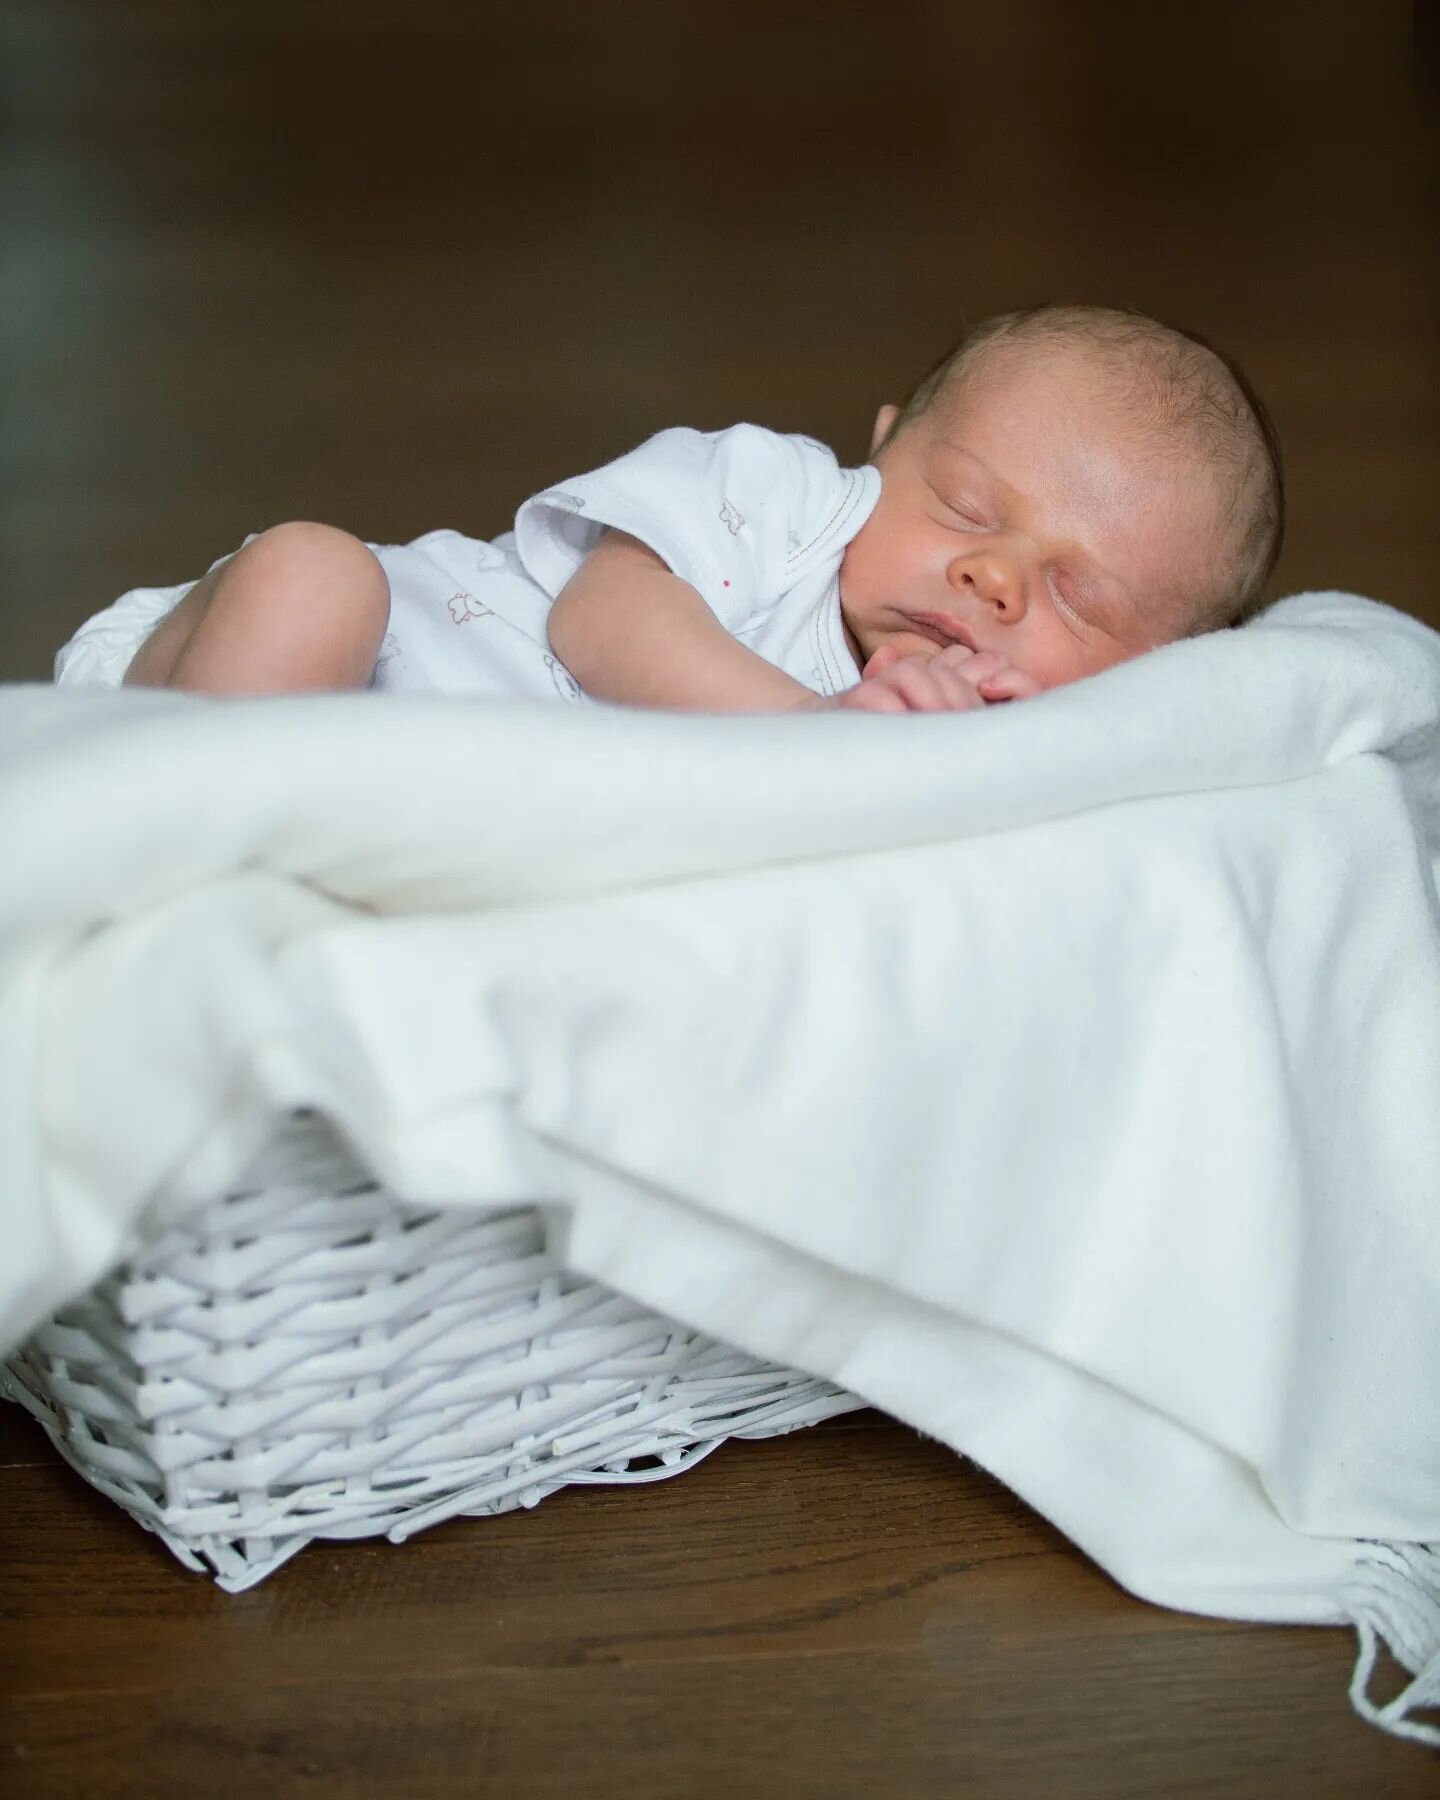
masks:
[(124, 680), (193, 693), (364, 688), (389, 616), (391, 585), (360, 538), (275, 526), (196, 581)]

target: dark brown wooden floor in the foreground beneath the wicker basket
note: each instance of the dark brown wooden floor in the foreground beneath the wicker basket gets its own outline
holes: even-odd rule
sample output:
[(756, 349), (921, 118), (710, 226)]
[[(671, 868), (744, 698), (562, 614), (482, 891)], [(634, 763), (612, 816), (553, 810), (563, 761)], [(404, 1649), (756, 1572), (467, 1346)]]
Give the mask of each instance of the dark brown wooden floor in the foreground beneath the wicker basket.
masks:
[[(9, 1411), (9, 1409), (7, 1409)], [(0, 1793), (1420, 1800), (1339, 1631), (1183, 1618), (875, 1413), (227, 1597), (0, 1426)]]

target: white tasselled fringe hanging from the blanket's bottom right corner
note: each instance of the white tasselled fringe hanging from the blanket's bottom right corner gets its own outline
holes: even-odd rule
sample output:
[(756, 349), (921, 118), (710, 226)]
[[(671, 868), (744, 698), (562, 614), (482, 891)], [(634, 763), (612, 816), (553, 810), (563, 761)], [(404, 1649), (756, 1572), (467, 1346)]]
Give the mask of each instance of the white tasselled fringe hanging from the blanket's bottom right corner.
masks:
[[(1341, 1606), (1359, 1634), (1350, 1705), (1393, 1737), (1440, 1748), (1440, 1728), (1411, 1717), (1440, 1708), (1440, 1544), (1366, 1544)], [(1370, 1699), (1381, 1643), (1413, 1676), (1384, 1706)]]

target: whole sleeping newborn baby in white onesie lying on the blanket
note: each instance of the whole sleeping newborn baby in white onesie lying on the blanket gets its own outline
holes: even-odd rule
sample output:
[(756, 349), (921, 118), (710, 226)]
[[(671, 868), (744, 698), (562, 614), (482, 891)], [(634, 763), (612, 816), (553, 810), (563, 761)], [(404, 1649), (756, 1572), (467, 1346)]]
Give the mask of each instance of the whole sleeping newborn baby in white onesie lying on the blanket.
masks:
[(1282, 529), (1274, 430), (1228, 358), (1143, 313), (1039, 306), (882, 407), (862, 468), (756, 425), (677, 428), (493, 542), (275, 526), (122, 596), (56, 679), (968, 711), (1238, 623)]

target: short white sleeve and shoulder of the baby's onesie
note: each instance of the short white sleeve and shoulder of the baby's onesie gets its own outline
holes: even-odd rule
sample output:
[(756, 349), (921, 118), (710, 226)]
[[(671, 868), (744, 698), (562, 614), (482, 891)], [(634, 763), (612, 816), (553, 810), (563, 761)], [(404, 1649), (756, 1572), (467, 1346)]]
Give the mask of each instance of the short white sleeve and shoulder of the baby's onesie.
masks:
[(760, 425), (677, 427), (526, 500), (515, 547), (554, 599), (607, 526), (628, 531), (736, 632), (763, 617), (826, 547), (848, 542), (877, 495), (877, 470), (842, 470), (812, 437)]

